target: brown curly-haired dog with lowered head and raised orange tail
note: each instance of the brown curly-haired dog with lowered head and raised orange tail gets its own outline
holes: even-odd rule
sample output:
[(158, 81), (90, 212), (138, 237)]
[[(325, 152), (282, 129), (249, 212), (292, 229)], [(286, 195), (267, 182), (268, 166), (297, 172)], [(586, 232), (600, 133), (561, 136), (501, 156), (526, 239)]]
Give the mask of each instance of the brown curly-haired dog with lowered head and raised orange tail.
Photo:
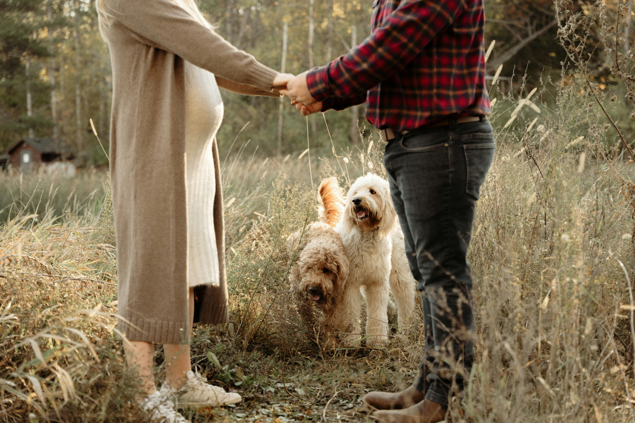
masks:
[(307, 328), (317, 340), (328, 340), (331, 347), (336, 347), (337, 331), (349, 329), (342, 327), (347, 313), (338, 309), (343, 304), (349, 259), (335, 231), (344, 210), (344, 198), (336, 178), (322, 181), (319, 201), (320, 221), (289, 237), (288, 248), (295, 256), (289, 279), (298, 312)]

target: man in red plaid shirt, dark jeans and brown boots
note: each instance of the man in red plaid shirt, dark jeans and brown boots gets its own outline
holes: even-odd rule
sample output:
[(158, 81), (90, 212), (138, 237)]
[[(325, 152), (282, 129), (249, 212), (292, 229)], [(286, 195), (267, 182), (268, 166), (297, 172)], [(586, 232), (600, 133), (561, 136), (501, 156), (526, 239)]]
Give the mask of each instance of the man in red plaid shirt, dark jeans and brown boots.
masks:
[(368, 393), (382, 422), (434, 423), (474, 359), (467, 261), (474, 206), (494, 152), (483, 0), (374, 0), (372, 33), (281, 93), (304, 116), (366, 104), (382, 130), (391, 194), (417, 279), (425, 354), (413, 385)]

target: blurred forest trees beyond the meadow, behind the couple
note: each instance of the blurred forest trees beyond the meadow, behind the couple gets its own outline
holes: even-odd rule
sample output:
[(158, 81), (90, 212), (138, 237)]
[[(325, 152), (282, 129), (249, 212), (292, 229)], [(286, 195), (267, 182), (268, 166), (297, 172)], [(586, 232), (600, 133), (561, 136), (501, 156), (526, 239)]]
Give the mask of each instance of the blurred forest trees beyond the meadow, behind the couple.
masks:
[[(615, 3), (607, 0), (605, 3)], [(624, 2), (622, 2), (624, 3)], [(201, 10), (232, 44), (274, 69), (298, 73), (346, 53), (370, 33), (371, 0), (199, 0)], [(590, 4), (579, 1), (579, 13)], [(552, 0), (485, 0), (486, 43), (495, 40), (488, 60), (491, 77), (503, 65), (498, 91), (514, 93), (541, 77), (563, 83), (566, 54), (559, 45)], [(609, 6), (610, 7), (610, 6)], [(617, 9), (617, 6), (613, 6)], [(286, 23), (286, 25), (285, 25)], [(286, 28), (288, 39), (283, 54)], [(630, 40), (631, 32), (627, 33)], [(587, 43), (599, 43), (587, 40)], [(598, 50), (601, 47), (598, 45)], [(598, 78), (606, 81), (602, 55), (595, 55)], [(608, 83), (609, 81), (606, 81)], [(92, 134), (93, 119), (102, 142), (109, 138), (110, 58), (90, 0), (0, 0), (0, 154), (21, 137), (55, 137), (80, 152), (85, 164), (105, 164)], [(288, 102), (244, 97), (223, 91), (221, 151), (244, 147), (261, 154), (358, 142), (370, 128), (358, 110), (327, 112), (308, 121)], [(280, 116), (282, 115), (282, 116)], [(244, 128), (244, 129), (243, 129)], [(107, 147), (107, 145), (105, 145)]]

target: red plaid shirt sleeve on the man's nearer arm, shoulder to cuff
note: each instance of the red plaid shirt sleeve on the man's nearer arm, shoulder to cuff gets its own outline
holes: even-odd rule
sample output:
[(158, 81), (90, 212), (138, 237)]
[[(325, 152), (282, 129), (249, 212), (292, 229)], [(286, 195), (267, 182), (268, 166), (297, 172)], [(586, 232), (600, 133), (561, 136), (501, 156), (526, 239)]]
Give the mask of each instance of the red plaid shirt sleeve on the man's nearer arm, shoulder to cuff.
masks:
[(464, 8), (465, 0), (402, 0), (363, 43), (309, 72), (311, 96), (323, 101), (370, 90), (406, 67)]

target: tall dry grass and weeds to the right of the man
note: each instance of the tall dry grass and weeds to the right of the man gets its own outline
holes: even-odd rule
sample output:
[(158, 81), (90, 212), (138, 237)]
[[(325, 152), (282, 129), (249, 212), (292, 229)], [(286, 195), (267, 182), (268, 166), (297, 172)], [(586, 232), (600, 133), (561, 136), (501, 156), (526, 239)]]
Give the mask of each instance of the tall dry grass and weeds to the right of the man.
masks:
[(605, 159), (610, 135), (578, 93), (561, 91), (548, 116), (518, 116), (515, 130), (495, 126), (502, 148), (470, 252), (473, 421), (634, 418), (634, 210), (620, 194), (632, 170)]

